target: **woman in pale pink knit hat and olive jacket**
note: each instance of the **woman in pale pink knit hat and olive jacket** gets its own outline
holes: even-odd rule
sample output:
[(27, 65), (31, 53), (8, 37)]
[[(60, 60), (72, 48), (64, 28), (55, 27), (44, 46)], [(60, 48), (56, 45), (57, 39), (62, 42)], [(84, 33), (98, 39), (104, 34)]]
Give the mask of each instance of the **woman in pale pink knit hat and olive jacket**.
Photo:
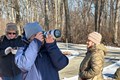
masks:
[(102, 35), (92, 32), (87, 39), (86, 56), (80, 64), (78, 80), (103, 80), (102, 70), (106, 47), (101, 44)]

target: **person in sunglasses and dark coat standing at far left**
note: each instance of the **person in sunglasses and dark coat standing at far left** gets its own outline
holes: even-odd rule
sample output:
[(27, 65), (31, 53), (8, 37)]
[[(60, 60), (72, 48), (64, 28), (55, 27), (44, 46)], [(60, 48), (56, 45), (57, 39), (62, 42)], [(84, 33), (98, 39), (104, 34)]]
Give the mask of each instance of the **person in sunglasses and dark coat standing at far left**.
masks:
[(5, 35), (0, 37), (0, 74), (2, 80), (21, 80), (20, 69), (15, 65), (17, 47), (23, 46), (15, 23), (8, 23)]

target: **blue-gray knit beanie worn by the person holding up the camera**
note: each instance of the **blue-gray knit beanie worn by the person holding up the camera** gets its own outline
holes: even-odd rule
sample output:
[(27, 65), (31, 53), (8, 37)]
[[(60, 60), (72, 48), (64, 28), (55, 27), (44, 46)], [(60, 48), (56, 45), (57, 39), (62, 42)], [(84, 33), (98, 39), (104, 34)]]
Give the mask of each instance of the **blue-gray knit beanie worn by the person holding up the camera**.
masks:
[(32, 35), (37, 34), (38, 32), (42, 31), (42, 27), (39, 25), (38, 22), (27, 23), (24, 26), (25, 37), (29, 39)]

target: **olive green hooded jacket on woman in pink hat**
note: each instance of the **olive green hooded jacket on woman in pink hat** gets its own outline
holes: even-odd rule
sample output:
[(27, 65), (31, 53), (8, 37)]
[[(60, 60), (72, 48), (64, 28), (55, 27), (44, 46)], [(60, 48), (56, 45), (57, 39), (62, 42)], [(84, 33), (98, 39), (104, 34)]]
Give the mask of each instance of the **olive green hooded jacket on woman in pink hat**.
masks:
[(78, 80), (103, 80), (102, 70), (106, 51), (103, 44), (88, 49), (80, 65)]

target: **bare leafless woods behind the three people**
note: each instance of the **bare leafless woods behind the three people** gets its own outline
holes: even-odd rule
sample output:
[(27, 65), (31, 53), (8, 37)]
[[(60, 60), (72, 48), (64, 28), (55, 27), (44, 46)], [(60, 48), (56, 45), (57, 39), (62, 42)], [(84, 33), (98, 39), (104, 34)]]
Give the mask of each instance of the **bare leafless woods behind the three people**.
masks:
[(63, 42), (85, 43), (97, 31), (106, 45), (120, 44), (120, 0), (0, 0), (0, 34), (7, 22), (15, 22), (21, 34), (33, 21), (44, 30), (60, 29)]

